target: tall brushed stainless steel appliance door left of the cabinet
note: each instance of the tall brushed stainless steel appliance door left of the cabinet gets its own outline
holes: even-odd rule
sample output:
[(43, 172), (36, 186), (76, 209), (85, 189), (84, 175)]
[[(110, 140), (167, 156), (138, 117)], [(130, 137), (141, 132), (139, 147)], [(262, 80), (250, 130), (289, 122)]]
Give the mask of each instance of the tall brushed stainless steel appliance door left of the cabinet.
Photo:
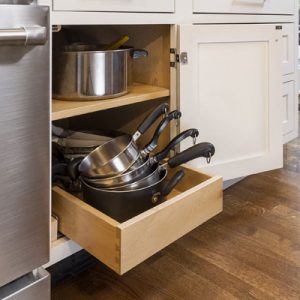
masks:
[[(34, 26), (49, 28), (47, 7), (0, 6), (5, 32)], [(0, 287), (49, 260), (49, 42), (39, 44), (0, 43)]]

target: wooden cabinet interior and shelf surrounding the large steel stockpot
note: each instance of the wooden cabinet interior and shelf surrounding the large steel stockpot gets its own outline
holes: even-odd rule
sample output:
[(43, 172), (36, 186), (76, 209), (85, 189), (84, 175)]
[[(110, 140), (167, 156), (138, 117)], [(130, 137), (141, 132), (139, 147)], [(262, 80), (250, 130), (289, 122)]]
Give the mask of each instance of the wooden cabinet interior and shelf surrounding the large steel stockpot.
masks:
[[(155, 106), (163, 101), (170, 102), (169, 25), (63, 26), (60, 32), (53, 33), (53, 59), (55, 52), (67, 44), (109, 44), (125, 34), (129, 36), (125, 45), (145, 49), (149, 53), (146, 58), (134, 60), (129, 72), (132, 74), (129, 82), (141, 84), (142, 94), (136, 93), (135, 96), (130, 90), (129, 94), (115, 99), (85, 102), (54, 100), (54, 124), (73, 130), (97, 129), (108, 134), (111, 131), (132, 134)], [(150, 140), (154, 128), (152, 126), (149, 133), (141, 137), (140, 144)], [(165, 130), (158, 150), (169, 139), (170, 131)]]

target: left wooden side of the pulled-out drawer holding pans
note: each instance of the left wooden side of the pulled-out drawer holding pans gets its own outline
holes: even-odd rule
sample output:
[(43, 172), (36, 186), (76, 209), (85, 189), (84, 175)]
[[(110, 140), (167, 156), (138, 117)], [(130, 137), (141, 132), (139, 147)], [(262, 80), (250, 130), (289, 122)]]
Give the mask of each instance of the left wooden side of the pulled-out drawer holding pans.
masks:
[(52, 190), (52, 209), (60, 232), (119, 273), (118, 222), (58, 187)]

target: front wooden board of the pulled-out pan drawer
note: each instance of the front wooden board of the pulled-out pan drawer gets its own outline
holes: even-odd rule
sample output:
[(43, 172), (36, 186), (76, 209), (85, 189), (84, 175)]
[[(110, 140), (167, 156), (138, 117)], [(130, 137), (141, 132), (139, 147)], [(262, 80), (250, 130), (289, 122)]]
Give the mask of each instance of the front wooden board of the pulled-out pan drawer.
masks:
[(120, 274), (220, 213), (223, 209), (222, 178), (213, 177), (175, 198), (170, 205), (136, 222), (119, 226)]

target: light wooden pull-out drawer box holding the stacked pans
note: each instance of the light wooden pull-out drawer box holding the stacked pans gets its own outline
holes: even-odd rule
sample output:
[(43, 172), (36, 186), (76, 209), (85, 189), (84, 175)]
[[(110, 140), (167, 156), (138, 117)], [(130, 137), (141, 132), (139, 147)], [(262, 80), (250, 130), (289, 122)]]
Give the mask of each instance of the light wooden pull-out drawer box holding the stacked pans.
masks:
[(222, 211), (222, 178), (180, 168), (186, 175), (165, 202), (124, 223), (54, 187), (53, 212), (59, 218), (59, 231), (124, 274)]

